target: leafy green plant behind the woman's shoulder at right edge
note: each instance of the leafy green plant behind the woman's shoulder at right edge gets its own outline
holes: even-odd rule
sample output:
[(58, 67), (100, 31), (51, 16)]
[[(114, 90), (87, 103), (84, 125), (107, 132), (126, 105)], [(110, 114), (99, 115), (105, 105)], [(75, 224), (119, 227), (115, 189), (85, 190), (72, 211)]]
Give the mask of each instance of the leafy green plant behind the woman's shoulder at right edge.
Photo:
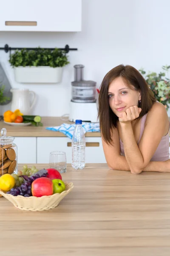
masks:
[(143, 68), (139, 71), (142, 73), (142, 75), (145, 75), (145, 80), (147, 81), (150, 89), (153, 91), (156, 100), (161, 102), (168, 110), (168, 103), (170, 103), (170, 79), (165, 76), (166, 73), (168, 76), (170, 66), (162, 66), (162, 69), (165, 72), (160, 72), (158, 75), (155, 72), (149, 72), (147, 75), (145, 75), (146, 72), (143, 70)]

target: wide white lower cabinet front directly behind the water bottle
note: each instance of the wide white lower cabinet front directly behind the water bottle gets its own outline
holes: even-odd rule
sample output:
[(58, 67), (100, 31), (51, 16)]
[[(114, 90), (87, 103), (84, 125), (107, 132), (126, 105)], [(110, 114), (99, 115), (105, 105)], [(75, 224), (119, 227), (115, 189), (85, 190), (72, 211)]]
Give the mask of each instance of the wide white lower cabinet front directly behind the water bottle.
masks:
[[(85, 162), (106, 163), (101, 137), (86, 137)], [(48, 163), (51, 151), (64, 151), (71, 163), (71, 139), (68, 137), (37, 137), (37, 163)]]

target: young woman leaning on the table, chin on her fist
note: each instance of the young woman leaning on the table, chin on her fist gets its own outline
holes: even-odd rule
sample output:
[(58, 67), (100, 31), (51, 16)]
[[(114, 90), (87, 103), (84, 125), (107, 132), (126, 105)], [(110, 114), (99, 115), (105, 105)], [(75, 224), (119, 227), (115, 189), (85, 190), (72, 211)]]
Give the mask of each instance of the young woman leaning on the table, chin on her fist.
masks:
[(170, 172), (167, 111), (134, 67), (119, 65), (105, 75), (99, 122), (110, 169)]

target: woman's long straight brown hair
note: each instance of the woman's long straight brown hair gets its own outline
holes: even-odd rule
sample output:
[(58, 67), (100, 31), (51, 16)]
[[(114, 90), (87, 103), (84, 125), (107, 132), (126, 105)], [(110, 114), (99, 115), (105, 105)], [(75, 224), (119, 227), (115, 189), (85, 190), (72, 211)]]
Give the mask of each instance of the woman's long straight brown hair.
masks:
[[(105, 75), (100, 86), (98, 117), (102, 138), (106, 143), (111, 145), (113, 145), (111, 131), (113, 128), (117, 128), (117, 121), (119, 118), (113, 113), (109, 106), (108, 88), (111, 82), (119, 76), (125, 81), (127, 87), (133, 90), (133, 87), (135, 87), (136, 91), (141, 91), (141, 103), (139, 103), (138, 107), (142, 108), (142, 111), (137, 118), (137, 121), (142, 118), (142, 116), (152, 108), (153, 103), (156, 102), (156, 98), (147, 82), (134, 67), (130, 65), (119, 65), (110, 70)], [(133, 85), (133, 87), (131, 85)]]

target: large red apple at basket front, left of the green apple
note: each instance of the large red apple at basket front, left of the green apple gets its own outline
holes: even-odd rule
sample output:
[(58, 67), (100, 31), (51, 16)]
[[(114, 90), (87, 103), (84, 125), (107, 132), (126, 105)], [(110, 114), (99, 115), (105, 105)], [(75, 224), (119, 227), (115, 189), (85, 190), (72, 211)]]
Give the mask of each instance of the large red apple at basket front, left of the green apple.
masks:
[(33, 181), (31, 185), (32, 195), (41, 197), (43, 195), (53, 195), (53, 182), (46, 177), (40, 177)]

